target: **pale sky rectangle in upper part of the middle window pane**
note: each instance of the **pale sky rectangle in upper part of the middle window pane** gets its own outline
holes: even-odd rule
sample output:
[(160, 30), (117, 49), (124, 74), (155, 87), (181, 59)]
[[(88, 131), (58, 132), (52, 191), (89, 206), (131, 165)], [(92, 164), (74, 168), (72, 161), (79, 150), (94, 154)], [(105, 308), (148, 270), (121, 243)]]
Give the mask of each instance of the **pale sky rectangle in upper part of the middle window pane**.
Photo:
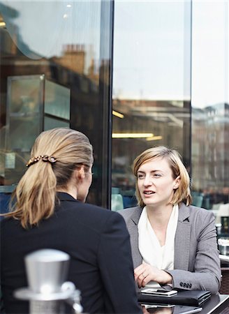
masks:
[(115, 1), (114, 98), (190, 98), (190, 12), (190, 1)]

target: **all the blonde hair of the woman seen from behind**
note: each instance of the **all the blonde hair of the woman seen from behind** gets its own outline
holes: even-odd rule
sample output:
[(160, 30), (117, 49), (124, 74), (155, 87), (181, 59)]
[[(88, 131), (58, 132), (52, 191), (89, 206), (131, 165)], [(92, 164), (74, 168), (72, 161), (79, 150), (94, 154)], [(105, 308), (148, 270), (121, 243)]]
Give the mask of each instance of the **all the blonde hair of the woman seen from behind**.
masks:
[(31, 158), (44, 155), (53, 156), (57, 161), (44, 162), (40, 158), (29, 166), (11, 197), (10, 212), (5, 215), (20, 220), (24, 228), (52, 216), (57, 188), (66, 188), (77, 167), (84, 165), (88, 171), (93, 163), (89, 139), (70, 128), (40, 133), (31, 149)]

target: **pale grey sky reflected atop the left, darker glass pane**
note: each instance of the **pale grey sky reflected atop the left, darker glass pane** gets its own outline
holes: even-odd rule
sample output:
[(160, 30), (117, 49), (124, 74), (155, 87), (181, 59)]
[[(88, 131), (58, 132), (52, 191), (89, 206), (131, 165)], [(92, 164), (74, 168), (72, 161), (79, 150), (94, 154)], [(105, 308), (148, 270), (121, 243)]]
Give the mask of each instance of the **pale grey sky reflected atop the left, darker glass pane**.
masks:
[[(98, 60), (100, 52), (101, 1), (0, 1), (17, 10), (17, 17), (4, 14), (6, 27), (13, 34), (17, 31), (23, 44), (40, 57), (60, 57), (64, 45), (84, 45), (86, 64)], [(84, 12), (87, 16), (84, 19)], [(29, 25), (29, 27), (28, 27)], [(15, 29), (17, 26), (17, 30)], [(17, 43), (24, 54), (24, 46)], [(31, 57), (31, 54), (29, 55)]]

